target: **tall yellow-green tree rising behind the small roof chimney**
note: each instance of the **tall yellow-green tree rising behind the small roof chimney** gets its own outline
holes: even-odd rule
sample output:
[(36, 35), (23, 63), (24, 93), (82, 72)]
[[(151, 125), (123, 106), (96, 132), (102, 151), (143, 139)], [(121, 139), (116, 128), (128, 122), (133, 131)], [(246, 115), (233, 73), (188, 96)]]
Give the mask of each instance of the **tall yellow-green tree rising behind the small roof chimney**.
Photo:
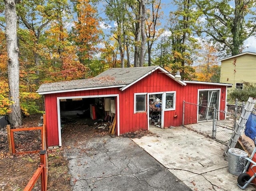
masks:
[(170, 12), (169, 28), (174, 58), (172, 69), (173, 72), (180, 70), (182, 79), (190, 79), (190, 73), (194, 72), (192, 56), (200, 47), (193, 33), (200, 12), (194, 9), (194, 0), (174, 0), (174, 4), (177, 9)]

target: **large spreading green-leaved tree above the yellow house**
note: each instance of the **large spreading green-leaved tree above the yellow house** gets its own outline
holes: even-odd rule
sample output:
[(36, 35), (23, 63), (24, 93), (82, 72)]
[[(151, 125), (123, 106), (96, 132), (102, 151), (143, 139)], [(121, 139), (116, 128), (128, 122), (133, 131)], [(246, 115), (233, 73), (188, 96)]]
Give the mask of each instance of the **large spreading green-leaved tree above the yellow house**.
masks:
[(198, 0), (204, 13), (203, 30), (215, 42), (219, 51), (236, 55), (243, 43), (256, 32), (256, 0)]

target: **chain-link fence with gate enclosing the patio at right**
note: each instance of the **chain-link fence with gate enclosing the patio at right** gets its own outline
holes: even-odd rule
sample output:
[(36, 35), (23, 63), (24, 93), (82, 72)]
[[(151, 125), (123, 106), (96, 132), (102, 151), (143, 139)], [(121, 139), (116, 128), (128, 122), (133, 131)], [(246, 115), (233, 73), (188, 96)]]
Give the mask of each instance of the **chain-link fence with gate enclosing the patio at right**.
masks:
[[(183, 126), (206, 137), (215, 139), (222, 144), (228, 144), (244, 106), (244, 102), (238, 102), (236, 100), (234, 105), (228, 104), (227, 109), (221, 111), (198, 104), (184, 102)], [(253, 110), (252, 114), (256, 115), (256, 110)], [(245, 135), (244, 130), (239, 140), (246, 151), (251, 153), (255, 147), (254, 142), (251, 138)]]

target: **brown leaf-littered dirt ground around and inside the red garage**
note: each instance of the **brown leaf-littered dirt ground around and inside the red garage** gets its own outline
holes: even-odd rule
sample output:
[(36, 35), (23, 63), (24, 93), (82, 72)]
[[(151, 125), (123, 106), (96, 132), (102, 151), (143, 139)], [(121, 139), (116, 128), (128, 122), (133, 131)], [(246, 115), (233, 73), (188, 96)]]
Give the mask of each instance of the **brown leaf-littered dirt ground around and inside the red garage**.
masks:
[[(40, 116), (30, 116), (23, 120), (22, 127), (37, 126)], [(88, 125), (89, 124), (89, 125)], [(62, 128), (61, 148), (48, 150), (48, 191), (70, 191), (71, 176), (68, 173), (68, 160), (64, 157), (64, 152), (70, 146), (76, 146), (80, 140), (90, 139), (95, 136), (105, 136), (108, 128), (101, 129), (98, 122), (86, 121), (84, 119), (67, 119)], [(141, 137), (150, 134), (148, 131), (137, 131), (126, 133), (125, 137)], [(40, 164), (39, 154), (8, 154), (7, 138), (0, 134), (0, 190), (2, 191), (22, 191)], [(33, 191), (40, 190), (40, 179), (34, 186)]]

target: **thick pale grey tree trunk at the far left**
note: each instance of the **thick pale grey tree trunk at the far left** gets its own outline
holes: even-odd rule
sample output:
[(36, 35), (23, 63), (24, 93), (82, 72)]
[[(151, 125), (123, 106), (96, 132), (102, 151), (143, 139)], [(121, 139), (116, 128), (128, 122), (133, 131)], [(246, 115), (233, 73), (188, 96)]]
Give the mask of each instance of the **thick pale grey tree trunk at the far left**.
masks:
[(9, 115), (10, 123), (16, 127), (22, 124), (20, 98), (19, 98), (19, 72), (20, 65), (18, 60), (17, 44), (17, 14), (15, 0), (4, 0), (6, 18), (6, 44), (8, 54), (8, 81), (9, 99), (13, 102), (10, 106), (12, 113)]

